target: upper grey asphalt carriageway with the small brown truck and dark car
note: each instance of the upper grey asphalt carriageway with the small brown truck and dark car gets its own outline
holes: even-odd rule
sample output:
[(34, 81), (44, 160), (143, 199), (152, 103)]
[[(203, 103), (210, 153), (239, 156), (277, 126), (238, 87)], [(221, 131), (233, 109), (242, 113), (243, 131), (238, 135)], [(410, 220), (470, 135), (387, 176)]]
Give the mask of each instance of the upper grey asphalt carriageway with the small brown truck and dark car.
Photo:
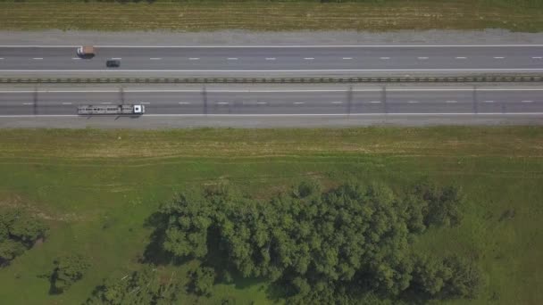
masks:
[[(0, 72), (538, 72), (543, 45), (0, 46)], [(106, 68), (107, 59), (121, 67)], [(167, 98), (167, 97), (163, 97)]]

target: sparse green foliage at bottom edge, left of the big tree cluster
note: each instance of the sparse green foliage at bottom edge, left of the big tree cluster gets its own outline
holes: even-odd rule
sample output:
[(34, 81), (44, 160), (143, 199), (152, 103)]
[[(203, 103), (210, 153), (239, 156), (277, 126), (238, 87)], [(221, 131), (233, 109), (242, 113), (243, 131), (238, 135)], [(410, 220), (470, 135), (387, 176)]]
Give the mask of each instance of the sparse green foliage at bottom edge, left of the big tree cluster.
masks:
[(122, 278), (108, 278), (96, 287), (87, 304), (167, 305), (176, 303), (177, 284), (163, 279), (152, 266)]

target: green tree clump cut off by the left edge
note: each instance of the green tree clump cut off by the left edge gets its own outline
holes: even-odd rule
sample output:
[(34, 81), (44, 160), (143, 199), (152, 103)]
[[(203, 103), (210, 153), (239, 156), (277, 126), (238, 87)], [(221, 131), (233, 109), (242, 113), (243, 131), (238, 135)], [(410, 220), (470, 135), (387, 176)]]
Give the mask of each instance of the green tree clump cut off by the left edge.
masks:
[(45, 235), (46, 225), (28, 212), (0, 210), (0, 266), (9, 264)]

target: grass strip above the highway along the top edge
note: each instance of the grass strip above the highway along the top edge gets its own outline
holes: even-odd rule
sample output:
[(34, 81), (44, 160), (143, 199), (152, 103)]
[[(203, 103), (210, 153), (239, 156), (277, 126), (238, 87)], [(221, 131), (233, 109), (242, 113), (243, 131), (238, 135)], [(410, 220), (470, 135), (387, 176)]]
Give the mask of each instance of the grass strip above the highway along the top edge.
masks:
[(543, 29), (539, 0), (4, 0), (0, 29)]

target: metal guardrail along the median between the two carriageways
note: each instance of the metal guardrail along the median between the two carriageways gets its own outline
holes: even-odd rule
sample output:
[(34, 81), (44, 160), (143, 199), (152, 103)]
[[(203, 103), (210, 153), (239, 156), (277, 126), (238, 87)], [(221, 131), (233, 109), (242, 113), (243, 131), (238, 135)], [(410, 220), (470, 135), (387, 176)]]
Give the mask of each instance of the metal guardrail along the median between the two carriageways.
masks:
[(356, 78), (0, 78), (0, 84), (324, 84), (543, 82), (543, 76)]

